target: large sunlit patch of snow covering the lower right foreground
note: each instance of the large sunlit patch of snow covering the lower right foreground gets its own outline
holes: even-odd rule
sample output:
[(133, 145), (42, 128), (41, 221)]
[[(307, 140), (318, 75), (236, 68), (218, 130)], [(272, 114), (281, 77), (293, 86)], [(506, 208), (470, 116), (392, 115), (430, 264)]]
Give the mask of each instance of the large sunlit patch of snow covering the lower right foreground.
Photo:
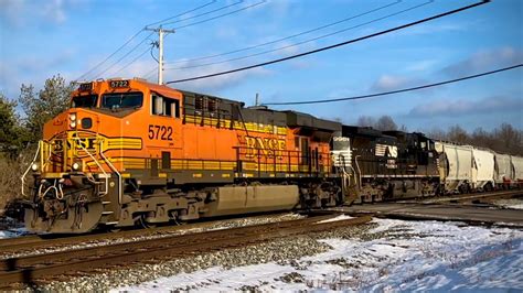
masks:
[(523, 230), (459, 223), (375, 219), (364, 239), (329, 238), (331, 250), (281, 263), (214, 267), (115, 291), (523, 290)]

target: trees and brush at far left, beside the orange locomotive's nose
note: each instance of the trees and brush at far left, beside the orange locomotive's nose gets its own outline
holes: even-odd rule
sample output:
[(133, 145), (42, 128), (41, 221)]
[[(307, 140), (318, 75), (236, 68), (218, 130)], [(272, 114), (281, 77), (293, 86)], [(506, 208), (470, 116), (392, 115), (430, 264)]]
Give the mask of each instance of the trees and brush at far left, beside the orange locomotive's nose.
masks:
[(57, 75), (40, 90), (22, 85), (19, 97), (0, 94), (0, 216), (9, 200), (21, 197), (20, 177), (34, 158), (43, 126), (68, 107), (73, 88)]

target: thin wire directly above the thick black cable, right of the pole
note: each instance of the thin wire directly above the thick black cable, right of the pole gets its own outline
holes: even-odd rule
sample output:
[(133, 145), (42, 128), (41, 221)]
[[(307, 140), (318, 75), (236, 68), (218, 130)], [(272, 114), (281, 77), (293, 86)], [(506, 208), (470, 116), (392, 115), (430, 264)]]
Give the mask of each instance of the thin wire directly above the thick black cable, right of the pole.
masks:
[(196, 65), (189, 65), (189, 66), (181, 66), (181, 67), (170, 67), (170, 68), (166, 68), (166, 69), (178, 70), (178, 69), (205, 67), (205, 66), (210, 66), (210, 65), (223, 64), (223, 63), (228, 63), (228, 62), (232, 62), (232, 61), (239, 61), (239, 59), (246, 59), (246, 58), (250, 58), (250, 57), (255, 57), (255, 56), (259, 56), (259, 55), (265, 55), (265, 54), (268, 54), (268, 53), (286, 50), (286, 48), (289, 48), (289, 47), (295, 47), (295, 46), (298, 46), (298, 45), (302, 45), (302, 44), (307, 44), (307, 43), (310, 43), (310, 42), (313, 42), (313, 41), (325, 39), (325, 37), (329, 37), (329, 36), (335, 35), (335, 34), (340, 34), (340, 33), (343, 33), (343, 32), (346, 32), (346, 31), (350, 31), (350, 30), (353, 30), (353, 29), (357, 29), (357, 28), (361, 28), (361, 26), (364, 26), (364, 25), (367, 25), (367, 24), (371, 24), (371, 23), (374, 23), (374, 22), (378, 22), (378, 21), (392, 18), (392, 17), (405, 13), (405, 12), (414, 10), (414, 9), (418, 9), (420, 7), (424, 7), (424, 6), (433, 3), (433, 2), (434, 2), (434, 0), (430, 0), (430, 1), (427, 1), (425, 3), (417, 4), (417, 6), (410, 7), (408, 9), (401, 10), (398, 12), (394, 12), (394, 13), (387, 14), (385, 17), (374, 19), (372, 21), (367, 21), (367, 22), (364, 22), (364, 23), (361, 23), (361, 24), (357, 24), (357, 25), (353, 25), (353, 26), (350, 26), (350, 28), (345, 28), (345, 29), (342, 29), (342, 30), (339, 30), (339, 31), (335, 31), (335, 32), (332, 32), (332, 33), (328, 33), (328, 34), (323, 34), (323, 35), (316, 36), (316, 37), (312, 37), (312, 39), (308, 39), (308, 40), (305, 40), (305, 41), (301, 41), (301, 42), (298, 42), (298, 43), (293, 43), (293, 44), (290, 44), (290, 45), (286, 45), (286, 46), (281, 46), (281, 47), (277, 47), (277, 48), (271, 48), (271, 50), (263, 51), (263, 52), (255, 53), (255, 54), (244, 55), (244, 56), (239, 56), (239, 57), (235, 57), (235, 58), (224, 59), (224, 61), (217, 61), (217, 62), (211, 62), (211, 63), (204, 63), (204, 64), (196, 64)]

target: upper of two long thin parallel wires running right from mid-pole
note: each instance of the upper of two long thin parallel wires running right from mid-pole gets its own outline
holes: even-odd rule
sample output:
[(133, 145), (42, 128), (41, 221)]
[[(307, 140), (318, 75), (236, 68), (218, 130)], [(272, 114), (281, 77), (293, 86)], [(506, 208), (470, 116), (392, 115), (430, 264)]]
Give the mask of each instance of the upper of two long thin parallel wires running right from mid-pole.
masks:
[(378, 7), (378, 8), (376, 8), (376, 9), (373, 9), (373, 10), (370, 10), (370, 11), (366, 11), (366, 12), (363, 12), (363, 13), (360, 13), (360, 14), (356, 14), (356, 15), (352, 15), (352, 17), (349, 17), (349, 18), (345, 18), (345, 19), (342, 19), (342, 20), (339, 20), (339, 21), (335, 21), (335, 22), (331, 22), (331, 23), (328, 23), (328, 24), (324, 24), (324, 25), (321, 25), (321, 26), (318, 26), (318, 28), (314, 28), (314, 29), (311, 29), (311, 30), (308, 30), (308, 31), (305, 31), (305, 32), (300, 32), (300, 33), (297, 33), (297, 34), (292, 34), (292, 35), (289, 35), (289, 36), (281, 37), (281, 39), (273, 40), (273, 41), (269, 41), (269, 42), (267, 42), (267, 43), (262, 43), (262, 44), (257, 44), (257, 45), (253, 45), (253, 46), (248, 46), (248, 47), (237, 48), (237, 50), (233, 50), (233, 51), (225, 52), (225, 53), (220, 53), (220, 54), (214, 54), (214, 55), (200, 56), (200, 57), (194, 57), (194, 58), (184, 59), (184, 61), (177, 61), (177, 62), (167, 62), (166, 64), (179, 64), (179, 63), (188, 63), (188, 62), (195, 62), (195, 61), (209, 59), (209, 58), (214, 58), (214, 57), (231, 55), (231, 54), (234, 54), (234, 53), (239, 53), (239, 52), (244, 52), (244, 51), (248, 51), (248, 50), (253, 50), (253, 48), (257, 48), (257, 47), (262, 47), (262, 46), (266, 46), (266, 45), (279, 43), (279, 42), (281, 42), (281, 41), (286, 41), (286, 40), (293, 39), (293, 37), (297, 37), (297, 36), (303, 35), (303, 34), (308, 34), (308, 33), (312, 33), (312, 32), (316, 32), (316, 31), (319, 31), (319, 30), (323, 30), (323, 29), (327, 29), (327, 28), (329, 28), (329, 26), (332, 26), (332, 25), (335, 25), (335, 24), (340, 24), (340, 23), (343, 23), (343, 22), (353, 20), (353, 19), (355, 19), (355, 18), (360, 18), (360, 17), (370, 14), (370, 13), (372, 13), (372, 12), (376, 12), (376, 11), (378, 11), (378, 10), (382, 10), (382, 9), (385, 9), (385, 8), (388, 8), (388, 7), (398, 4), (398, 3), (401, 3), (401, 2), (402, 2), (402, 0), (397, 0), (396, 2), (393, 2), (393, 3), (386, 4), (386, 6)]

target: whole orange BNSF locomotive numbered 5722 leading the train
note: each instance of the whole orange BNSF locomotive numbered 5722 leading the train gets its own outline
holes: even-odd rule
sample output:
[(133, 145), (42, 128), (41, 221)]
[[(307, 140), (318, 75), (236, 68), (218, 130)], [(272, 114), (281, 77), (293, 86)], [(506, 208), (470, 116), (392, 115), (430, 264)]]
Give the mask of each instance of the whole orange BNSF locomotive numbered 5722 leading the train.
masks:
[[(25, 224), (87, 232), (340, 205), (351, 184), (340, 170), (349, 153), (341, 130), (140, 79), (82, 84), (72, 107), (44, 126), (22, 177), (22, 186), (29, 173), (35, 178), (22, 187)], [(341, 145), (338, 161), (331, 144)]]

